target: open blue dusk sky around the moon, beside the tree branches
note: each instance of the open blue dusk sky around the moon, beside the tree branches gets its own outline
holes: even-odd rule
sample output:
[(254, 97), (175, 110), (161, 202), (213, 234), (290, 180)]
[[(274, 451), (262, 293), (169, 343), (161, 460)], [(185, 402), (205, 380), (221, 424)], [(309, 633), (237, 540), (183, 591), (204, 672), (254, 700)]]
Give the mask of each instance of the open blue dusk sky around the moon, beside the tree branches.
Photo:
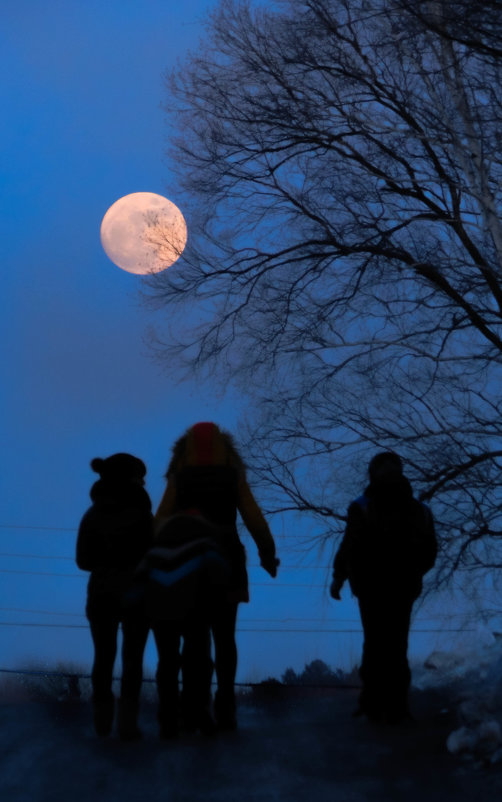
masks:
[[(87, 576), (73, 559), (96, 478), (90, 460), (115, 451), (144, 459), (156, 507), (173, 440), (197, 420), (233, 430), (239, 417), (238, 401), (222, 402), (195, 380), (175, 384), (153, 360), (148, 332), (168, 311), (141, 301), (141, 280), (115, 267), (99, 240), (104, 213), (122, 195), (177, 202), (164, 74), (197, 44), (211, 5), (2, 2), (0, 667), (89, 668)], [(359, 628), (348, 591), (339, 605), (327, 596), (331, 555), (294, 551), (308, 521), (304, 530), (297, 521), (271, 526), (283, 567), (274, 582), (244, 537), (252, 600), (240, 626), (276, 631), (241, 631), (238, 679), (314, 658), (357, 662), (358, 634), (315, 631)], [(307, 631), (277, 631), (290, 627)], [(154, 669), (151, 642), (146, 662)]]

